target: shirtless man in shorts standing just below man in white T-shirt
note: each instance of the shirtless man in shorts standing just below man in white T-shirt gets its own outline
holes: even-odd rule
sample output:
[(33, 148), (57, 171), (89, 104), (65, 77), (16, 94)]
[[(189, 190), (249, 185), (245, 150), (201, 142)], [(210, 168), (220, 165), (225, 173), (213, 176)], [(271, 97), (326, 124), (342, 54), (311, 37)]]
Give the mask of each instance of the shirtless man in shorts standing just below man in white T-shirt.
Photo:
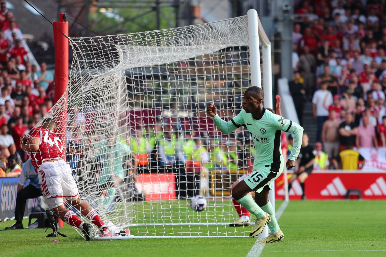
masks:
[(335, 109), (329, 111), (329, 119), (323, 123), (322, 142), (324, 151), (328, 156), (334, 158), (339, 153), (339, 133), (340, 121), (337, 119), (338, 113)]

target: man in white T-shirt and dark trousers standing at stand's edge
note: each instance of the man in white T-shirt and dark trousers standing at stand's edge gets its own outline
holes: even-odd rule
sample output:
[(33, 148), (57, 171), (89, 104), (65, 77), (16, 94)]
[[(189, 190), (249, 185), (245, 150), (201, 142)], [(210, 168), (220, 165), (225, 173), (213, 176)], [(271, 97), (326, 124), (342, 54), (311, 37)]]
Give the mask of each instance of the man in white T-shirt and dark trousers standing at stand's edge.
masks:
[(323, 123), (327, 121), (329, 114), (323, 104), (325, 103), (326, 106), (330, 106), (333, 102), (332, 94), (327, 90), (327, 86), (327, 81), (320, 82), (320, 89), (315, 91), (312, 97), (313, 115), (317, 118), (317, 142), (320, 142)]

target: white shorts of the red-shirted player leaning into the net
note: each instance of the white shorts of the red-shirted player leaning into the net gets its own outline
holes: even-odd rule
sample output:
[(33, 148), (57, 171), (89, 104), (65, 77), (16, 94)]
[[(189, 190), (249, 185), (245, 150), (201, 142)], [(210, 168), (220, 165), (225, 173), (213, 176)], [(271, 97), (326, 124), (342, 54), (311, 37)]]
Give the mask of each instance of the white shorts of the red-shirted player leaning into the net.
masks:
[(65, 161), (47, 161), (39, 167), (37, 175), (43, 198), (49, 208), (62, 205), (63, 198), (73, 201), (79, 197), (71, 167)]

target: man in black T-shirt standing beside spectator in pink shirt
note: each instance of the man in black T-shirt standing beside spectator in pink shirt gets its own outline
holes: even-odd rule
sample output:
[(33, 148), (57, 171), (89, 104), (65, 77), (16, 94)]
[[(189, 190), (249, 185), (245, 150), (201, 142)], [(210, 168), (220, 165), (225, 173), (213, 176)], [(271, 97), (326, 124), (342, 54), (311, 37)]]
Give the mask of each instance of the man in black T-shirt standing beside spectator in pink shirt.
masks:
[(352, 113), (346, 113), (345, 121), (339, 125), (339, 151), (355, 145), (357, 133), (358, 128), (354, 123)]

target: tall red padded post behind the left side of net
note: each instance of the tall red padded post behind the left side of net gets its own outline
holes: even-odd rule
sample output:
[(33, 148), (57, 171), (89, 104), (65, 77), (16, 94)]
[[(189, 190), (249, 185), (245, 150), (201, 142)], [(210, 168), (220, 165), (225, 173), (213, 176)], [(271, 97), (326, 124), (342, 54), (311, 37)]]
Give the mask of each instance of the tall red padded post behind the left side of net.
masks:
[[(61, 108), (54, 113), (56, 119), (56, 134), (62, 140), (65, 146), (66, 142), (66, 119), (67, 119), (67, 83), (68, 83), (68, 38), (62, 32), (68, 35), (68, 22), (66, 14), (59, 15), (59, 21), (54, 22), (54, 45), (55, 45), (55, 93), (54, 103), (65, 94)], [(60, 31), (59, 31), (60, 30)], [(64, 153), (65, 153), (64, 148)], [(59, 219), (59, 227), (63, 227), (63, 221)]]

